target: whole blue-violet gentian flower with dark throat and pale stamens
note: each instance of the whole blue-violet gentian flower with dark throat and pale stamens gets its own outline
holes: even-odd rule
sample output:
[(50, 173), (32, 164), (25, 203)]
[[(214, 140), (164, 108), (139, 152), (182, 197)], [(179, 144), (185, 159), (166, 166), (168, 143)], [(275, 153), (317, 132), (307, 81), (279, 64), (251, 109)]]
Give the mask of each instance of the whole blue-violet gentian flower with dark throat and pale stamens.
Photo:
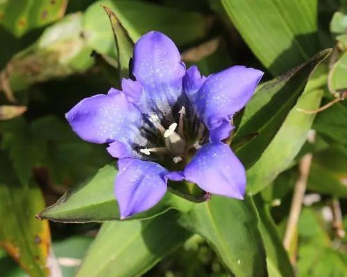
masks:
[(244, 166), (223, 141), (262, 71), (232, 66), (201, 76), (196, 66), (186, 70), (169, 37), (153, 31), (135, 44), (132, 73), (135, 80), (123, 79), (122, 90), (85, 98), (66, 114), (81, 139), (107, 143), (118, 158), (121, 218), (157, 204), (168, 180), (243, 199)]

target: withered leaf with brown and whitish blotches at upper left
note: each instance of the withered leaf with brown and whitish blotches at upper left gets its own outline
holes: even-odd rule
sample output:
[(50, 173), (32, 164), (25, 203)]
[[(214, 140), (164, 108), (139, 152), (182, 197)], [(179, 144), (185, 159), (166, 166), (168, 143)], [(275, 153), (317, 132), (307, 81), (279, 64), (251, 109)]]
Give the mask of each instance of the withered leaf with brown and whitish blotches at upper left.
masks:
[[(83, 15), (71, 14), (44, 30), (35, 44), (12, 57), (3, 70), (10, 91), (36, 82), (83, 72), (92, 66), (92, 51), (83, 33)], [(3, 86), (4, 89), (4, 86)]]

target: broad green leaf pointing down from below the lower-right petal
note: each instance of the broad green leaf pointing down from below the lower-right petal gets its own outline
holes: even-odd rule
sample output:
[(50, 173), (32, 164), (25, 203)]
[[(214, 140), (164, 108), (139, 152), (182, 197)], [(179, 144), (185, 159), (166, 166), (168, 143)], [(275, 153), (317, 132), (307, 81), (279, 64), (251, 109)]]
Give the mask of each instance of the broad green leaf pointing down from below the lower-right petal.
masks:
[(180, 224), (205, 238), (235, 276), (267, 276), (257, 211), (250, 198), (214, 195), (183, 214)]

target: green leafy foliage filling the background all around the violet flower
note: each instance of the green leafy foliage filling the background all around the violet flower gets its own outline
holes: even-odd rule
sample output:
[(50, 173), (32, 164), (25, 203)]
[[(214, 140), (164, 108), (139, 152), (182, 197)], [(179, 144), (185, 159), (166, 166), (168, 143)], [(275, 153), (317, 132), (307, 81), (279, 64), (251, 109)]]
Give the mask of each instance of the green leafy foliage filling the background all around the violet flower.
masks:
[[(167, 193), (117, 221), (115, 161), (64, 114), (149, 30), (205, 75), (265, 71), (235, 118), (244, 202)], [(0, 42), (0, 276), (347, 276), (346, 0), (0, 0)]]

